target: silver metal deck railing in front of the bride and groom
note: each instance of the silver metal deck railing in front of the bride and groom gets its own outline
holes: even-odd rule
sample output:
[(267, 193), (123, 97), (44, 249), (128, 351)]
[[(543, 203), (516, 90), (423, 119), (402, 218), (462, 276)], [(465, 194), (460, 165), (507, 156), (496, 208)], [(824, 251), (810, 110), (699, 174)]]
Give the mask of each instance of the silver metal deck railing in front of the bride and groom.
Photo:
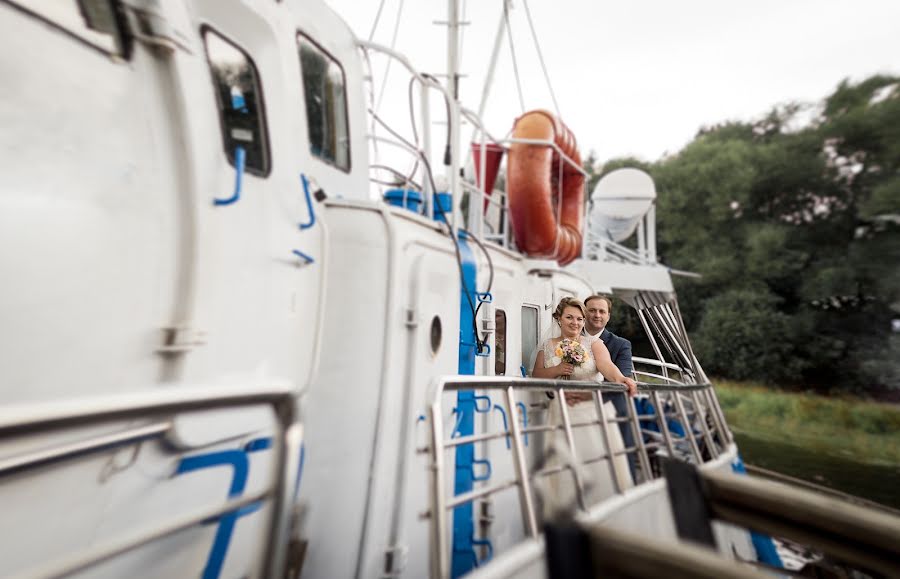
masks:
[[(656, 405), (656, 413), (653, 416), (638, 416), (632, 404), (627, 404), (628, 416), (625, 419), (631, 426), (634, 436), (635, 445), (624, 450), (614, 450), (607, 434), (607, 428), (610, 426), (618, 428), (617, 424), (620, 419), (609, 419), (603, 412), (603, 395), (604, 393), (624, 393), (627, 388), (617, 383), (598, 383), (590, 381), (569, 381), (569, 380), (552, 380), (538, 378), (510, 378), (505, 376), (444, 376), (435, 380), (430, 400), (432, 401), (428, 407), (428, 421), (430, 423), (430, 440), (427, 448), (419, 449), (420, 452), (427, 452), (430, 456), (430, 508), (423, 516), (431, 519), (431, 575), (432, 577), (446, 577), (449, 569), (449, 538), (447, 527), (448, 511), (477, 499), (488, 497), (494, 493), (509, 489), (513, 486), (519, 491), (519, 504), (521, 509), (523, 526), (525, 532), (530, 537), (538, 535), (538, 516), (535, 512), (535, 496), (531, 489), (531, 480), (535, 477), (554, 474), (570, 470), (575, 478), (575, 491), (579, 505), (582, 509), (587, 509), (590, 505), (586, 504), (584, 486), (580, 480), (579, 467), (587, 464), (599, 462), (601, 460), (609, 460), (610, 474), (612, 476), (613, 485), (616, 493), (623, 493), (624, 489), (620, 487), (619, 476), (616, 472), (616, 464), (610, 457), (628, 454), (633, 452), (637, 455), (641, 471), (644, 474), (644, 481), (651, 480), (653, 473), (651, 469), (649, 450), (654, 447), (652, 444), (644, 444), (641, 422), (646, 420), (654, 420), (663, 439), (663, 446), (666, 448), (669, 456), (676, 456), (675, 442), (683, 443), (687, 440), (691, 448), (692, 458), (697, 463), (703, 462), (703, 455), (700, 450), (699, 440), (702, 437), (704, 448), (709, 448), (710, 458), (718, 456), (719, 449), (714, 448), (715, 441), (712, 434), (702, 432), (698, 435), (694, 432), (694, 420), (690, 419), (693, 414), (694, 418), (699, 422), (705, 422), (700, 415), (700, 406), (694, 405), (693, 412), (689, 413), (685, 409), (683, 403), (677, 399), (677, 395), (696, 395), (698, 393), (710, 390), (710, 384), (645, 384), (639, 383), (638, 392), (648, 394)], [(510, 409), (516, 408), (516, 393), (524, 392), (555, 392), (555, 403), (559, 405), (562, 424), (549, 426), (534, 426), (522, 428), (519, 421), (512, 419), (509, 421), (508, 427), (504, 430), (490, 433), (478, 433), (464, 438), (445, 438), (443, 431), (443, 412), (442, 402), (445, 392), (459, 390), (479, 390), (503, 392), (506, 401), (507, 415), (515, 416), (515, 412)], [(577, 457), (574, 439), (572, 436), (573, 427), (588, 427), (592, 422), (573, 423), (569, 420), (568, 408), (565, 402), (566, 391), (590, 392), (597, 408), (598, 419), (595, 422), (601, 429), (601, 436), (604, 453), (602, 456), (583, 457), (581, 460)], [(661, 395), (676, 396), (676, 402), (672, 405), (672, 411), (665, 410), (665, 404)], [(676, 416), (684, 425), (684, 437), (675, 438), (669, 432), (666, 420), (669, 416)], [(529, 472), (525, 461), (525, 451), (523, 446), (523, 436), (526, 432), (557, 432), (563, 431), (566, 434), (566, 444), (568, 446), (569, 458), (564, 464), (556, 467), (545, 468), (541, 471)], [(475, 489), (464, 495), (448, 497), (448, 493), (444, 489), (444, 453), (448, 449), (458, 448), (463, 444), (475, 444), (478, 442), (486, 442), (502, 437), (509, 437), (511, 441), (510, 451), (512, 453), (513, 463), (515, 466), (515, 476), (511, 480), (495, 483), (490, 486)], [(721, 438), (720, 438), (721, 440)]]

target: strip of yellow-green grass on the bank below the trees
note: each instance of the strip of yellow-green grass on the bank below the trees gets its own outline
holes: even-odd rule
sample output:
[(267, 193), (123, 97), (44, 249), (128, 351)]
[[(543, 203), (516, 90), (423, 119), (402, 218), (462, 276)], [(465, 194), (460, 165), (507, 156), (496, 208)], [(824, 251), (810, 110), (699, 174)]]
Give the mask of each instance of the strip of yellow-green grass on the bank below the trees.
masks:
[(900, 464), (900, 406), (713, 380), (735, 431), (862, 462)]

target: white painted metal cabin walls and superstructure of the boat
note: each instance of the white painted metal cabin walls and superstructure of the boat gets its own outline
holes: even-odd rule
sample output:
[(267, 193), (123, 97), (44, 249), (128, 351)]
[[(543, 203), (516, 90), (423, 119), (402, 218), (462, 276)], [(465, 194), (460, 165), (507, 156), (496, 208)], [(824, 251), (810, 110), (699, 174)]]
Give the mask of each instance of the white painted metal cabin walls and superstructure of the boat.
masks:
[[(241, 516), (220, 576), (261, 576), (255, 569), (262, 560), (277, 564), (303, 541), (304, 577), (423, 577), (446, 569), (447, 553), (437, 555), (449, 545), (429, 541), (431, 525), (421, 514), (430, 508), (431, 489), (452, 484), (452, 473), (448, 468), (444, 480), (430, 480), (428, 457), (419, 450), (431, 433), (420, 418), (431, 402), (428, 385), (458, 370), (460, 308), (467, 306), (448, 228), (428, 217), (429, 179), (422, 174), (424, 215), (369, 198), (359, 48), (388, 52), (418, 73), (403, 55), (358, 41), (320, 0), (116, 2), (126, 15), (122, 32), (132, 38), (130, 52), (121, 53), (85, 25), (75, 0), (59, 0), (74, 7), (62, 16), (44, 4), (0, 0), (0, 406), (15, 405), (25, 420), (51, 402), (103, 406), (117, 396), (175, 396), (198, 385), (253, 396), (265, 391), (257, 385), (288, 384), (299, 398), (305, 444), (302, 473), (299, 456), (276, 469), (283, 489), (300, 481), (290, 528), (269, 507)], [(448, 88), (418, 80), (423, 94), (438, 90), (451, 109), (445, 177), (455, 233), (461, 118), (481, 131), (482, 141), (498, 141), (452, 98), (459, 23), (452, 0), (450, 6)], [(213, 199), (234, 190), (236, 170), (223, 150), (206, 29), (255, 64), (268, 134), (270, 171), (245, 172), (240, 199), (225, 206)], [(348, 170), (312, 150), (298, 34), (343, 71)], [(427, 96), (420, 107), (427, 125)], [(423, 134), (427, 156), (429, 127)], [(327, 198), (311, 201), (315, 224), (305, 228), (299, 224), (312, 215), (301, 174)], [(482, 200), (472, 195), (470, 221), (478, 233)], [(614, 249), (617, 261), (560, 268), (502, 241), (504, 247), (472, 248), (479, 291), (487, 291), (493, 273), (493, 302), (478, 320), (492, 346), (476, 365), (483, 375), (496, 368), (498, 312), (506, 320), (505, 376), (519, 377), (560, 297), (672, 291), (665, 268), (626, 248)], [(503, 393), (485, 396), (479, 424), (496, 430)], [(546, 420), (543, 393), (517, 396), (524, 415), (510, 408), (507, 421), (521, 421), (524, 429), (526, 416), (529, 425)], [(436, 422), (452, 428), (452, 396), (441, 402)], [(265, 439), (279, 418), (260, 406), (192, 407), (134, 423), (5, 438), (0, 576), (106, 553), (103, 545), (138, 528), (168, 529), (226, 499), (262, 496), (277, 462)], [(298, 438), (290, 427), (286, 443)], [(541, 457), (541, 435), (529, 439), (516, 449), (518, 463), (504, 437), (479, 440), (477, 454), (491, 460), (494, 480), (504, 480)], [(57, 461), (63, 454), (72, 458)], [(178, 473), (184, 459), (205, 455), (237, 462)], [(443, 459), (451, 464), (452, 452)], [(41, 469), (31, 468), (39, 463)], [(244, 466), (245, 487), (230, 492)], [(478, 507), (489, 515), (479, 532), (498, 555), (535, 532), (532, 520), (523, 524), (515, 489)], [(641, 518), (648, 507), (622, 508)], [(48, 525), (51, 516), (56, 522)], [(200, 576), (217, 528), (193, 526), (127, 553), (117, 549), (120, 555), (82, 576)], [(267, 532), (279, 539), (266, 544)], [(298, 540), (291, 547), (288, 535)]]

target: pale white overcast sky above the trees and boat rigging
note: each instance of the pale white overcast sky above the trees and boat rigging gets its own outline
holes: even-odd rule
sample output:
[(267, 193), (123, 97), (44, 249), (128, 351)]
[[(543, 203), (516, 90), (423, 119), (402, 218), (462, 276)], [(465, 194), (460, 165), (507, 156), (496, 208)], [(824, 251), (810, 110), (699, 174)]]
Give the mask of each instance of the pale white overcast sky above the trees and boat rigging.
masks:
[[(326, 1), (369, 36), (380, 0)], [(432, 24), (447, 18), (443, 0), (386, 0), (374, 40), (391, 44), (401, 2), (397, 49), (424, 71), (444, 72), (446, 29)], [(503, 3), (460, 2), (471, 21), (461, 97), (477, 109)], [(900, 74), (898, 0), (531, 0), (528, 8), (562, 117), (582, 153), (600, 160), (656, 160), (701, 126), (817, 101), (846, 77)], [(552, 109), (523, 0), (514, 0), (510, 25), (525, 107)], [(501, 136), (522, 112), (510, 54), (507, 40), (485, 113)], [(376, 64), (376, 79), (383, 71)], [(402, 78), (394, 67), (391, 81)], [(405, 107), (388, 95), (381, 110), (396, 116)]]

